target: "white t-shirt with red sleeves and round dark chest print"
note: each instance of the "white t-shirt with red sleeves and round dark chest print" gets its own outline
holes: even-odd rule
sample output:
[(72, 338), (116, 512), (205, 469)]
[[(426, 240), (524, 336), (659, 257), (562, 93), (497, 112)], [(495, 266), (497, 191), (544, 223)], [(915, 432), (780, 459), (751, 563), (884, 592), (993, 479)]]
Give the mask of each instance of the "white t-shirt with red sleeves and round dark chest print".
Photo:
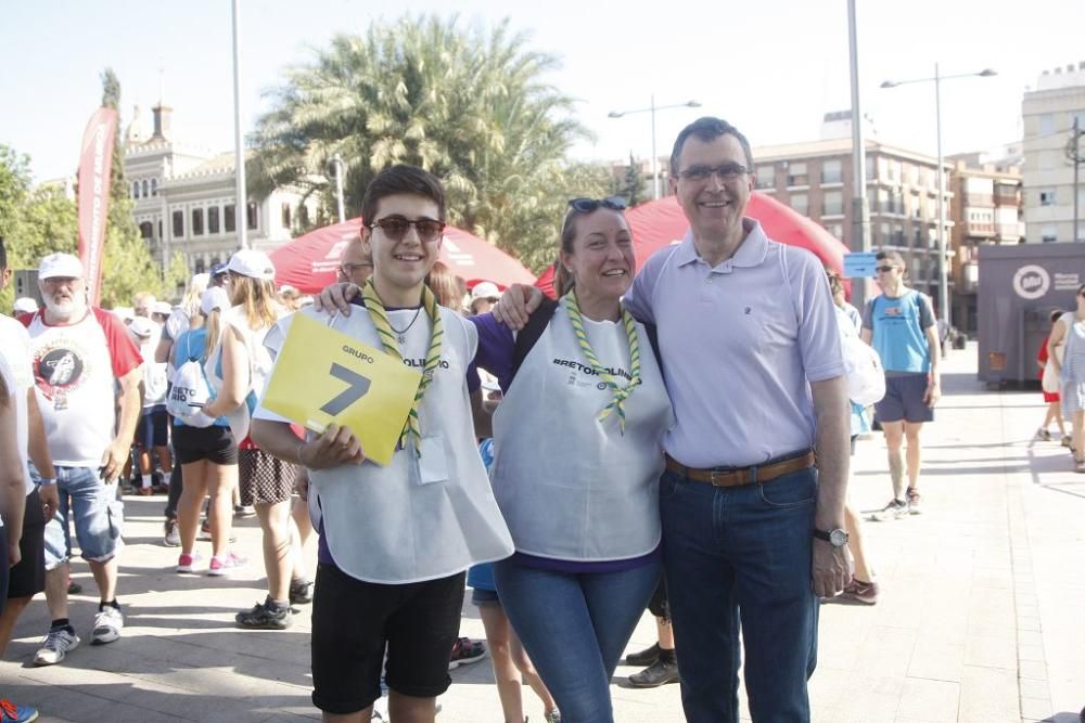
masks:
[(30, 333), (38, 405), (53, 463), (97, 467), (116, 435), (116, 380), (143, 359), (119, 319), (90, 309), (80, 321), (50, 325), (43, 311), (20, 321)]

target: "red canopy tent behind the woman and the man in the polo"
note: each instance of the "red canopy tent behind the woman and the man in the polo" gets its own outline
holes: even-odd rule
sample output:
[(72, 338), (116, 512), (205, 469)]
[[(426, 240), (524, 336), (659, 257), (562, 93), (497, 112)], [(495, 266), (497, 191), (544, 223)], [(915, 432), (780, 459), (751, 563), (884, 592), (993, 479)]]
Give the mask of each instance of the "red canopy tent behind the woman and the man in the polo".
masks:
[[(746, 216), (761, 222), (768, 237), (781, 244), (813, 251), (825, 266), (843, 272), (847, 247), (824, 228), (773, 196), (754, 191)], [(626, 215), (633, 231), (633, 247), (640, 269), (652, 254), (685, 237), (689, 222), (675, 196), (649, 201)], [(547, 269), (535, 285), (553, 296), (553, 268)]]

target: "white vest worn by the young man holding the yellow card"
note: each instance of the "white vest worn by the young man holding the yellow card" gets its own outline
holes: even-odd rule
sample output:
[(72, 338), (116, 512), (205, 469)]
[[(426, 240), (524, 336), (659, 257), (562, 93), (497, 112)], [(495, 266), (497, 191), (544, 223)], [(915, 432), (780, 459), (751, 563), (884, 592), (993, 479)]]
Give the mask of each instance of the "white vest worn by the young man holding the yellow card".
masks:
[[(369, 313), (361, 308), (353, 311), (348, 318), (336, 318), (333, 328), (380, 349)], [(328, 323), (326, 313), (308, 309), (298, 313)], [(414, 310), (388, 312), (396, 328), (407, 326), (413, 315)], [(335, 565), (358, 580), (384, 584), (435, 580), (503, 559), (513, 551), (474, 437), (467, 371), (477, 333), (448, 309), (441, 308), (441, 319), (445, 330), (441, 365), (422, 398), (419, 423), (423, 450), (436, 444), (445, 464), (435, 462), (439, 451), (420, 461), (411, 441), (387, 467), (366, 462), (309, 472)], [(418, 367), (429, 350), (430, 328), (422, 311), (401, 348), (405, 359)], [(399, 430), (404, 419), (388, 424)], [(447, 478), (423, 483), (422, 467), (444, 467)]]

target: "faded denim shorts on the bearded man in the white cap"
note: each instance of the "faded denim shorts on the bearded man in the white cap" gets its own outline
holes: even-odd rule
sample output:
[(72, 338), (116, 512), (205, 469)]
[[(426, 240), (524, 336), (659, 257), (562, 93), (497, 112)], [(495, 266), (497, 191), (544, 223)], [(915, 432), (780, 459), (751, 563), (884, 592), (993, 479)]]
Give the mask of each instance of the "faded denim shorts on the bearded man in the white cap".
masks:
[[(40, 483), (38, 470), (30, 477)], [(93, 467), (56, 467), (56, 489), (60, 506), (46, 524), (46, 569), (52, 570), (72, 556), (72, 532), (84, 559), (107, 563), (122, 545), (124, 503), (117, 496), (117, 485), (106, 485)]]

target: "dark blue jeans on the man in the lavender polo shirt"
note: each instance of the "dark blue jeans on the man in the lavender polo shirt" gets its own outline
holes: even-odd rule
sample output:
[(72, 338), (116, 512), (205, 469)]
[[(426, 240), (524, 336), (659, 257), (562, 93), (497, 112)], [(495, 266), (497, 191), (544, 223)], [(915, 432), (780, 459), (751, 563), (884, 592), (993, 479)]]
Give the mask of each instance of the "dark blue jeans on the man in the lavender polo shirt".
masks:
[(731, 488), (664, 472), (663, 563), (690, 723), (738, 723), (740, 621), (753, 720), (810, 720), (816, 499), (813, 468)]

